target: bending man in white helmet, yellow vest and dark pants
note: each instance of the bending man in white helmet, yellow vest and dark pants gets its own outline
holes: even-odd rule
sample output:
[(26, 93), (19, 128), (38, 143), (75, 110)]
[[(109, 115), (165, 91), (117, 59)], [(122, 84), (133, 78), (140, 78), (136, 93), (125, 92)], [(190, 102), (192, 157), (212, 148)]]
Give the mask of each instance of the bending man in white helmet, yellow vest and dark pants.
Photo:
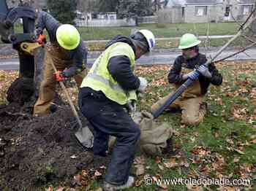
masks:
[(124, 106), (137, 100), (136, 91), (145, 91), (147, 80), (134, 74), (135, 60), (155, 44), (154, 35), (148, 30), (114, 37), (80, 86), (80, 111), (94, 128), (94, 155), (105, 157), (109, 136), (116, 137), (104, 190), (121, 190), (134, 183), (129, 171), (140, 129)]

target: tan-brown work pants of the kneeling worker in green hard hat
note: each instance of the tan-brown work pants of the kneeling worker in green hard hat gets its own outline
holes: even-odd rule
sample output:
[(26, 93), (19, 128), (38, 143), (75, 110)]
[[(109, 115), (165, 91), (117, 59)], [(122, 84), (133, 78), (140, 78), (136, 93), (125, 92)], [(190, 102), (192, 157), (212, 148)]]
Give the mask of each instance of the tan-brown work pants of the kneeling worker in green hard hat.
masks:
[[(165, 103), (167, 98), (173, 95), (173, 92), (169, 95), (166, 95), (164, 98), (160, 99), (151, 106), (151, 112), (159, 109), (159, 106)], [(203, 106), (203, 95), (195, 96), (194, 98), (177, 98), (170, 107), (180, 108), (181, 112), (181, 123), (186, 125), (199, 125), (200, 122), (203, 122), (203, 118), (206, 115), (206, 106)]]

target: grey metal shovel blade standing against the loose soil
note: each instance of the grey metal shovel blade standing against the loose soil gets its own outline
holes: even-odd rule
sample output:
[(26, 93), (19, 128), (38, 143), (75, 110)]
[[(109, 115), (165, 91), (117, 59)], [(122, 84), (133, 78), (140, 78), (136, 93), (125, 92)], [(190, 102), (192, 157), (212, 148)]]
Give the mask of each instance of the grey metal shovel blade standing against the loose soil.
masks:
[(79, 143), (86, 148), (91, 148), (94, 145), (94, 135), (88, 126), (79, 128), (75, 133), (75, 138), (78, 139)]

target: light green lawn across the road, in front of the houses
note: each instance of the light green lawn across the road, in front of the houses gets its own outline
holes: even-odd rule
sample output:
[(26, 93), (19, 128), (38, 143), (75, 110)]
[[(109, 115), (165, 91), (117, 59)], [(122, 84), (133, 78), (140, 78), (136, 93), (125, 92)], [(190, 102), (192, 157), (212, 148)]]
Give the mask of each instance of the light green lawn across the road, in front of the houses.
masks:
[(91, 39), (111, 39), (117, 34), (129, 35), (132, 29), (151, 30), (157, 38), (180, 37), (185, 33), (192, 33), (199, 36), (207, 34), (209, 25), (209, 35), (232, 35), (236, 34), (239, 28), (237, 23), (173, 23), (173, 24), (140, 24), (138, 27), (80, 27), (84, 40)]

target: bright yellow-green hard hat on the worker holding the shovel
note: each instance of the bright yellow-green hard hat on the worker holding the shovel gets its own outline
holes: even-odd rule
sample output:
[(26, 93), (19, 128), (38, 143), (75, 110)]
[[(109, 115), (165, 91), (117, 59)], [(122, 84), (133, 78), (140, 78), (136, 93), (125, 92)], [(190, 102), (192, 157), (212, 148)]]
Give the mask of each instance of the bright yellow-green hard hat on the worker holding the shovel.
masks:
[(75, 26), (64, 24), (57, 29), (56, 39), (64, 49), (74, 50), (80, 43), (80, 34)]

